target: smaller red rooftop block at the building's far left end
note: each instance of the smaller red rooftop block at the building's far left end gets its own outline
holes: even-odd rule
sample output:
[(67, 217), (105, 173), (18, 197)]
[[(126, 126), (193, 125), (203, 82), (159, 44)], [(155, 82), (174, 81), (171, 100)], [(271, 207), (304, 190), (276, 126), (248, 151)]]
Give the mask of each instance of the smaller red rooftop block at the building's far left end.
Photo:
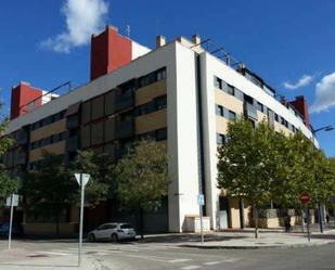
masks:
[[(21, 82), (18, 86), (12, 88), (11, 119), (26, 114), (28, 112), (27, 104), (35, 99), (41, 98), (41, 90), (30, 87), (25, 82)], [(38, 107), (42, 104), (42, 101), (38, 99), (34, 103), (34, 106)]]

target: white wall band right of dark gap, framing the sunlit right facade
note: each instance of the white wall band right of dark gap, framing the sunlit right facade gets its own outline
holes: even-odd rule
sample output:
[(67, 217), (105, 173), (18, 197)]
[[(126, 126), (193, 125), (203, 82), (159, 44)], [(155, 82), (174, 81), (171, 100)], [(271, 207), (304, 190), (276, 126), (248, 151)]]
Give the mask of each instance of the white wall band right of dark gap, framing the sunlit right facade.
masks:
[[(217, 229), (219, 226), (219, 195), (221, 191), (217, 188), (217, 138), (216, 138), (216, 111), (215, 111), (215, 85), (214, 76), (217, 76), (228, 83), (236, 87), (242, 92), (253, 97), (255, 100), (271, 108), (274, 113), (283, 116), (287, 121), (300, 129), (307, 138), (312, 138), (311, 131), (304, 123), (294, 115), (283, 104), (274, 98), (267, 94), (261, 88), (229, 67), (221, 60), (204, 52), (202, 59), (202, 91), (203, 91), (203, 115), (204, 115), (204, 132), (205, 142), (205, 177), (206, 177), (206, 211), (210, 216), (211, 228)], [(318, 145), (318, 142), (315, 142)]]

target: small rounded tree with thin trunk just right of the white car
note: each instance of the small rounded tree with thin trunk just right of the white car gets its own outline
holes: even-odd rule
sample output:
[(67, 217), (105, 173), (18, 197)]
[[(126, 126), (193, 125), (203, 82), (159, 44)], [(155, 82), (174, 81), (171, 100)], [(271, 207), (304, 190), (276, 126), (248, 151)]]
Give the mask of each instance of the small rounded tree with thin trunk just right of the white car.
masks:
[(115, 166), (118, 198), (121, 205), (138, 213), (143, 237), (143, 213), (157, 209), (168, 193), (168, 156), (165, 144), (138, 141)]

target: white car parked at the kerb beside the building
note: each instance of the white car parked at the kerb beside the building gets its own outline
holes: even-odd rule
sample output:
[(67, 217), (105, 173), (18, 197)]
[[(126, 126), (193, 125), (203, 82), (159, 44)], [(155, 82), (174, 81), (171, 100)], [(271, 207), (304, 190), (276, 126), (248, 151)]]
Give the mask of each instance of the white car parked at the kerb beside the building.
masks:
[(112, 240), (112, 242), (118, 242), (120, 240), (134, 240), (136, 236), (137, 233), (129, 223), (104, 223), (88, 234), (88, 239), (91, 242), (95, 240)]

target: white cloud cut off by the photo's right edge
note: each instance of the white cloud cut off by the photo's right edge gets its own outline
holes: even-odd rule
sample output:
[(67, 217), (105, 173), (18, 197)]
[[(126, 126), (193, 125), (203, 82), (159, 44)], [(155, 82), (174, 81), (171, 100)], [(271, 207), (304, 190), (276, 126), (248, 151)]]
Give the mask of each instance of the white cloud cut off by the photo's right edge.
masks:
[(311, 113), (320, 113), (335, 106), (335, 73), (325, 75), (315, 87), (315, 101)]

